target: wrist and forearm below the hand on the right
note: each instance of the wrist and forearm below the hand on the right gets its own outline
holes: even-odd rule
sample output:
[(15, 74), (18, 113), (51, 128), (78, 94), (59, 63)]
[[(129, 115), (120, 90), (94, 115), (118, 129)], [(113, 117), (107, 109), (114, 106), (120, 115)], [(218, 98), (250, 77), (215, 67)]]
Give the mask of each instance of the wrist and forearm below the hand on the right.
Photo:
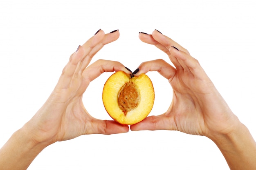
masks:
[(231, 132), (216, 135), (211, 140), (218, 146), (231, 170), (256, 168), (256, 143), (240, 121)]

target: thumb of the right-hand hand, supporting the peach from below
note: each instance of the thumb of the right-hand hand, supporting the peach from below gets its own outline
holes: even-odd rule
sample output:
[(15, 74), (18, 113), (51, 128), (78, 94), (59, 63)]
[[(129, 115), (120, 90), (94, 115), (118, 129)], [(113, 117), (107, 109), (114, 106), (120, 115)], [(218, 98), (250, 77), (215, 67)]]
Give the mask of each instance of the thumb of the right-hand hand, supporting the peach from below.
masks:
[(173, 126), (171, 122), (173, 121), (164, 114), (159, 116), (148, 116), (143, 121), (131, 125), (130, 130), (175, 130), (175, 126)]

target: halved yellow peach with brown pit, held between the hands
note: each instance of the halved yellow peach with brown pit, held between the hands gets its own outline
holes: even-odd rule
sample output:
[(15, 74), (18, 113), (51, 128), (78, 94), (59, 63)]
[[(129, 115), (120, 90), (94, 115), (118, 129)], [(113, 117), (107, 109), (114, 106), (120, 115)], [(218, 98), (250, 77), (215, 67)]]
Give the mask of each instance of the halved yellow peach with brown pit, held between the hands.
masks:
[(153, 108), (155, 92), (146, 74), (133, 76), (117, 71), (106, 81), (102, 100), (112, 119), (132, 125), (148, 116)]

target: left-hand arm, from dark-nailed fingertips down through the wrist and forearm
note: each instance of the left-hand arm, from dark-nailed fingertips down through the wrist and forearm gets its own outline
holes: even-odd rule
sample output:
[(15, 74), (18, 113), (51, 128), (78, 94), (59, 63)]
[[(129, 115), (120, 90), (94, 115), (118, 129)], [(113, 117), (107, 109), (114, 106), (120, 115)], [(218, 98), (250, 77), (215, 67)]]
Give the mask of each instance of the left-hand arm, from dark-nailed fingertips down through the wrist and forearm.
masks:
[[(92, 117), (83, 106), (83, 93), (101, 73), (130, 72), (119, 62), (92, 57), (106, 44), (119, 38), (119, 31), (105, 34), (100, 30), (70, 56), (54, 91), (45, 104), (0, 150), (0, 170), (25, 170), (34, 158), (56, 141), (85, 134), (124, 133), (129, 131), (115, 121)], [(14, 163), (15, 162), (15, 163)]]

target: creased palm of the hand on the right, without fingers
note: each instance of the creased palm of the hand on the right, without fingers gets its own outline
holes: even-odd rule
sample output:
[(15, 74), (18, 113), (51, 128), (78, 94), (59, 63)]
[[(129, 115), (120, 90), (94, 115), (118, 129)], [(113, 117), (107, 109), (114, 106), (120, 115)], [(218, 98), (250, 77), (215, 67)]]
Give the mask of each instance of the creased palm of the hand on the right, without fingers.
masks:
[(205, 133), (203, 108), (199, 104), (199, 96), (207, 93), (198, 86), (198, 80), (189, 73), (179, 73), (170, 84), (173, 88), (173, 100), (166, 116), (173, 119), (172, 130), (179, 130), (193, 135)]

